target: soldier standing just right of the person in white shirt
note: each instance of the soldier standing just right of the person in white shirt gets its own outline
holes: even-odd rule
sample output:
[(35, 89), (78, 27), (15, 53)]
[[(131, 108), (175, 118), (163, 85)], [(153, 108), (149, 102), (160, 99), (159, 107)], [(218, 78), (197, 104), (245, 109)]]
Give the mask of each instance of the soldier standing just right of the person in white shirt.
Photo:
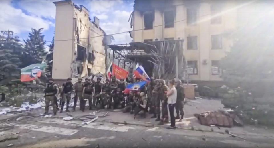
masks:
[[(184, 87), (181, 86), (181, 80), (177, 80), (176, 82), (176, 90), (177, 90), (177, 100), (176, 100), (176, 117), (175, 119), (180, 119), (180, 121), (184, 118), (184, 100), (185, 100), (185, 92)], [(181, 115), (181, 118), (179, 116)]]

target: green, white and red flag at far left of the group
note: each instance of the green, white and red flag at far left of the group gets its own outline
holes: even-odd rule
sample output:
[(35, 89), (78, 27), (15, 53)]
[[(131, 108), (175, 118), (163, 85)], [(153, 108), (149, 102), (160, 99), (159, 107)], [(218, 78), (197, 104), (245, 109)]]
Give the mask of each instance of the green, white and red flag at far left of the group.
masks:
[(35, 77), (41, 77), (41, 73), (46, 67), (47, 64), (39, 63), (31, 64), (25, 68), (22, 68), (20, 78), (21, 82), (33, 81), (35, 80)]

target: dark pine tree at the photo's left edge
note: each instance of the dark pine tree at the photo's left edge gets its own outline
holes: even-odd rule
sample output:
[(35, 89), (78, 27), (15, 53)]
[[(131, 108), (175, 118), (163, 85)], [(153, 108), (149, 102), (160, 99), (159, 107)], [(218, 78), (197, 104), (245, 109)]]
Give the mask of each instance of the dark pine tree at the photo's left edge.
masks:
[(0, 35), (0, 86), (10, 85), (20, 78), (22, 44), (13, 31), (1, 31)]

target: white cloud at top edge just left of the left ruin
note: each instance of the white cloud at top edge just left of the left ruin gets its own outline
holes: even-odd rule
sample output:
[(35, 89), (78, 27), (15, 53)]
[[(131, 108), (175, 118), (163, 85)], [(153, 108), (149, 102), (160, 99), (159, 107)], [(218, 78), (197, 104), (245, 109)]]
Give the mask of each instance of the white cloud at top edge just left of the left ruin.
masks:
[(55, 5), (54, 1), (58, 0), (21, 0), (19, 1), (19, 6), (31, 13), (33, 16), (45, 17), (54, 19), (55, 18)]

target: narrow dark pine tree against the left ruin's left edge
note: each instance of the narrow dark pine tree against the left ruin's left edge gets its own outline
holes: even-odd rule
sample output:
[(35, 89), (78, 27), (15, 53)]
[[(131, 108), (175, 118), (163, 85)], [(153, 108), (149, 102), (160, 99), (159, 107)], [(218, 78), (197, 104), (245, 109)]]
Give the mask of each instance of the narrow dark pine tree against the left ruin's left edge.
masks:
[(54, 47), (54, 36), (51, 40), (51, 44), (48, 45), (49, 52), (47, 53), (45, 62), (47, 63), (46, 73), (47, 77), (51, 78), (52, 76), (52, 63), (53, 63), (53, 47)]

